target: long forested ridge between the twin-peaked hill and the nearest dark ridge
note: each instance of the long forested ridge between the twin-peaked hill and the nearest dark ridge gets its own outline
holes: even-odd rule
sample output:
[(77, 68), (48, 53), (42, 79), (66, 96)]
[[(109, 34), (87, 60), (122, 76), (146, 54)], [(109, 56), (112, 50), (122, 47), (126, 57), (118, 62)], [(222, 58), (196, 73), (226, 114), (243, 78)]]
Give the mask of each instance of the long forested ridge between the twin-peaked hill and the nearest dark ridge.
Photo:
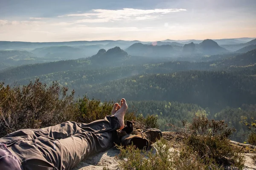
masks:
[[(70, 88), (77, 89), (83, 87), (84, 85), (104, 83), (111, 80), (132, 77), (134, 75), (140, 74), (172, 73), (175, 71), (187, 71), (193, 69), (207, 70), (209, 68), (212, 68), (212, 66), (210, 66), (207, 62), (191, 63), (173, 61), (156, 64), (128, 65), (123, 67), (102, 68), (97, 70), (81, 69), (59, 71), (35, 77), (28, 77), (25, 79), (17, 79), (16, 82), (22, 85), (26, 85), (31, 79), (34, 80), (36, 79), (36, 77), (39, 77), (42, 82), (46, 82), (47, 84), (50, 84), (52, 81), (58, 80), (61, 85), (68, 85)], [(12, 81), (12, 79), (8, 79), (8, 82), (12, 83)]]

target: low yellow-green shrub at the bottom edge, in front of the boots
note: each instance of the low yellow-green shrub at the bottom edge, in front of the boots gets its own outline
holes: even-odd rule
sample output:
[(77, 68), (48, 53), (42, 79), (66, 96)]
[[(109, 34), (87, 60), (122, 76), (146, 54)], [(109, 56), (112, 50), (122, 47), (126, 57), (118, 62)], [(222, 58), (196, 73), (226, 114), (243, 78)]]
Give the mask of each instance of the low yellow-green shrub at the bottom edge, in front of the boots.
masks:
[(121, 170), (220, 170), (215, 164), (204, 164), (203, 160), (192, 150), (172, 151), (171, 144), (165, 139), (154, 144), (155, 150), (139, 150), (130, 145), (126, 148), (117, 146), (120, 154)]

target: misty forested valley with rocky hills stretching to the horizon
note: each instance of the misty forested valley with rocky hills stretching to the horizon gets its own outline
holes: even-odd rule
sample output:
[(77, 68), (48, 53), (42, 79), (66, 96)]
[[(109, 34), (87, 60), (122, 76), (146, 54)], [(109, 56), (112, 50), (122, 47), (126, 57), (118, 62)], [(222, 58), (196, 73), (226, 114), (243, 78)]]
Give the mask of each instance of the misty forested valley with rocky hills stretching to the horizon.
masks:
[(247, 142), (241, 120), (256, 116), (256, 39), (0, 41), (0, 82), (37, 79), (77, 98), (125, 98), (136, 115), (157, 115), (163, 131), (195, 115), (225, 120), (232, 139)]

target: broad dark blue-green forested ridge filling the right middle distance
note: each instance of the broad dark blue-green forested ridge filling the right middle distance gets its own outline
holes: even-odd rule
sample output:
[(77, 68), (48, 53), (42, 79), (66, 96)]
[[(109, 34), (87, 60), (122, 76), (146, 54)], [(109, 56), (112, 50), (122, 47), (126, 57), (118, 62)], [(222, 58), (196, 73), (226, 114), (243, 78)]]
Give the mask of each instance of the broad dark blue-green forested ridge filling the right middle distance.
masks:
[(225, 71), (185, 71), (152, 74), (84, 86), (78, 93), (99, 99), (167, 100), (198, 104), (203, 108), (240, 107), (256, 103), (256, 70), (250, 74)]

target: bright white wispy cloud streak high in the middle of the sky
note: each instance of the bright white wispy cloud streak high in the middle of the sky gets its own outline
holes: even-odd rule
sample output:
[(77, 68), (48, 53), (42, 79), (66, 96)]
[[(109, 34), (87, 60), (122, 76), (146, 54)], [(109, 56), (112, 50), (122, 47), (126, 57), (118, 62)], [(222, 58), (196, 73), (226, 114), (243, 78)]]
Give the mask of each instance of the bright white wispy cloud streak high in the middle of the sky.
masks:
[(149, 20), (172, 12), (186, 11), (186, 9), (134, 9), (123, 8), (119, 10), (93, 9), (88, 13), (66, 14), (58, 17), (85, 17), (77, 20), (78, 23), (105, 23), (115, 20)]

